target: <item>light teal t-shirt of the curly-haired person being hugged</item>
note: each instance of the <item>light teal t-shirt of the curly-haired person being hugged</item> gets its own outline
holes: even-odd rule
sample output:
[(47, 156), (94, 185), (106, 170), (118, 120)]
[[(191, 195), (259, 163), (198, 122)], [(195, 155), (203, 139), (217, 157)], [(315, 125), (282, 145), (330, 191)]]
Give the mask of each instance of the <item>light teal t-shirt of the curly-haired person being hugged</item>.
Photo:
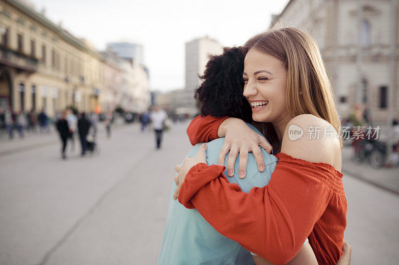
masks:
[[(248, 124), (258, 134), (255, 127)], [(224, 138), (207, 143), (206, 163), (217, 165), (217, 159), (223, 146)], [(188, 156), (194, 157), (201, 144), (197, 144)], [(239, 157), (235, 162), (234, 177), (228, 177), (230, 183), (237, 183), (242, 191), (249, 192), (253, 187), (263, 187), (270, 181), (277, 158), (261, 149), (265, 170), (259, 172), (252, 153), (248, 154), (247, 171), (245, 178), (238, 177)], [(224, 165), (227, 165), (228, 154)], [(227, 176), (227, 170), (223, 172)], [(168, 220), (165, 228), (161, 252), (158, 258), (159, 265), (183, 264), (254, 264), (251, 253), (237, 242), (222, 236), (208, 222), (203, 219), (196, 209), (187, 209), (178, 200), (173, 200), (176, 190), (173, 183), (169, 201)]]

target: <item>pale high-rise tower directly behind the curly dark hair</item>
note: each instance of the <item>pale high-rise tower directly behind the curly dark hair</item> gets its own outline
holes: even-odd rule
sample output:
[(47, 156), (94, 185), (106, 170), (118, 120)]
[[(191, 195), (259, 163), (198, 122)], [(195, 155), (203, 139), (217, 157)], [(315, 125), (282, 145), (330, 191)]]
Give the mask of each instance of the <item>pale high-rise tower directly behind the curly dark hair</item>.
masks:
[(217, 55), (223, 52), (223, 46), (214, 39), (203, 37), (186, 43), (186, 92), (185, 107), (192, 108), (190, 113), (196, 113), (196, 101), (194, 91), (201, 85), (199, 75), (205, 71), (209, 55)]

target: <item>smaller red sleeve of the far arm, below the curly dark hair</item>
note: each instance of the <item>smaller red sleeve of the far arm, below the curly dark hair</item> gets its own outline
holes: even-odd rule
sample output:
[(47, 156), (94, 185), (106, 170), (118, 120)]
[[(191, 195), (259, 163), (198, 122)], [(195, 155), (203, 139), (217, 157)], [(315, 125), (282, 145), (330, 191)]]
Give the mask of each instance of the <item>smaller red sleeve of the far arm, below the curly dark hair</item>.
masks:
[(216, 118), (213, 116), (197, 116), (195, 117), (189, 127), (187, 127), (187, 134), (192, 145), (198, 143), (207, 143), (217, 139), (217, 130), (220, 123), (228, 117)]

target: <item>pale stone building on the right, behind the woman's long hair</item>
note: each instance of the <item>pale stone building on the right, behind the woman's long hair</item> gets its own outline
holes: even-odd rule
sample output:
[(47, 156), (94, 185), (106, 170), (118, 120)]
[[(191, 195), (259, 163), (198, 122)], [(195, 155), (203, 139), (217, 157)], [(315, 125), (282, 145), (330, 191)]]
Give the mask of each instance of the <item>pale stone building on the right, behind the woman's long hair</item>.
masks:
[(290, 0), (276, 23), (317, 41), (343, 117), (355, 103), (368, 104), (375, 122), (399, 117), (398, 0)]

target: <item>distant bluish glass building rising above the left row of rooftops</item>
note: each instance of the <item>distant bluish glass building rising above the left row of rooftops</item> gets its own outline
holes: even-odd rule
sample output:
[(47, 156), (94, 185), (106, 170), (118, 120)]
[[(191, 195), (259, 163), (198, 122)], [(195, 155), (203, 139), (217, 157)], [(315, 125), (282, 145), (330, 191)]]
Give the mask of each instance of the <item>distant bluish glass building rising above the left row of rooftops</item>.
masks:
[(107, 43), (107, 49), (112, 51), (120, 58), (137, 61), (140, 65), (144, 65), (144, 46), (131, 42), (111, 42)]

